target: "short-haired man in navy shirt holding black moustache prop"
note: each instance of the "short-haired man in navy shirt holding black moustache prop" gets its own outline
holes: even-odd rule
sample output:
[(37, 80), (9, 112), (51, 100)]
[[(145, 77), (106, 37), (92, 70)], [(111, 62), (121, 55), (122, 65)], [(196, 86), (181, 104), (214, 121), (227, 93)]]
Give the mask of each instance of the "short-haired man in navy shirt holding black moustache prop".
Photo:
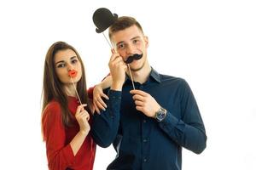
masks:
[[(114, 96), (116, 107), (108, 109), (119, 109), (119, 114), (95, 114), (91, 128), (97, 144), (113, 143), (117, 151), (108, 169), (181, 169), (182, 147), (200, 154), (207, 145), (188, 83), (161, 75), (149, 65), (148, 37), (134, 18), (120, 17), (110, 26), (109, 38), (115, 48), (108, 64), (113, 78), (109, 93), (121, 93)], [(142, 58), (126, 65), (134, 54)]]

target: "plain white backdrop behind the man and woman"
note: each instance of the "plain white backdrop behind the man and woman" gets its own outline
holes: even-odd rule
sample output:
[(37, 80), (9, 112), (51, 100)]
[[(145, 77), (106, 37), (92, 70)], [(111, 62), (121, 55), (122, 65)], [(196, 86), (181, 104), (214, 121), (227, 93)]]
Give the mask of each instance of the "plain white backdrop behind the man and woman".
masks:
[[(201, 155), (183, 150), (183, 169), (256, 169), (254, 1), (152, 2), (0, 2), (1, 169), (47, 169), (40, 99), (44, 57), (53, 42), (78, 49), (88, 87), (108, 73), (108, 43), (92, 22), (101, 7), (136, 17), (154, 69), (189, 82), (208, 140)], [(97, 147), (95, 169), (106, 169), (114, 156), (112, 146)]]

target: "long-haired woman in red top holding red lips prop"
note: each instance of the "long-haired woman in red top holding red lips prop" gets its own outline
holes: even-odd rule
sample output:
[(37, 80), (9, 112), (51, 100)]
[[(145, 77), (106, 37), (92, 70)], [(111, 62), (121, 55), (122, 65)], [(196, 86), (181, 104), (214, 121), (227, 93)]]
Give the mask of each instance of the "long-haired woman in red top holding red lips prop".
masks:
[(44, 63), (42, 113), (50, 170), (93, 169), (96, 144), (90, 135), (91, 112), (82, 59), (71, 45), (55, 42)]

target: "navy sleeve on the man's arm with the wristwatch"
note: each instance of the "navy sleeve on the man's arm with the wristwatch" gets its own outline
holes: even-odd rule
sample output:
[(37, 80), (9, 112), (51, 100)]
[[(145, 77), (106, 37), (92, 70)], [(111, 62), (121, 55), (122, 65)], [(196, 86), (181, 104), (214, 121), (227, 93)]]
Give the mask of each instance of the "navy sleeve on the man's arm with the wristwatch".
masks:
[(182, 118), (177, 119), (167, 111), (166, 118), (159, 123), (162, 130), (184, 148), (200, 154), (207, 145), (207, 135), (201, 114), (189, 84), (183, 80), (180, 87)]

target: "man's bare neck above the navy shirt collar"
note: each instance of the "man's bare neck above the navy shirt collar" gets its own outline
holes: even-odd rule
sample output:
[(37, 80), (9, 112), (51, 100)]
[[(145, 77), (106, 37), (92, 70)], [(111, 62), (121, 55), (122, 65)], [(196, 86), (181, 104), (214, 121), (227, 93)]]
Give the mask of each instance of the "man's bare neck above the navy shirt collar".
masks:
[[(140, 82), (143, 84), (148, 80), (148, 76), (150, 74), (151, 67), (148, 62), (143, 66), (143, 68), (139, 71), (131, 71), (131, 75), (133, 77), (134, 82)], [(130, 75), (130, 74), (129, 74)]]

